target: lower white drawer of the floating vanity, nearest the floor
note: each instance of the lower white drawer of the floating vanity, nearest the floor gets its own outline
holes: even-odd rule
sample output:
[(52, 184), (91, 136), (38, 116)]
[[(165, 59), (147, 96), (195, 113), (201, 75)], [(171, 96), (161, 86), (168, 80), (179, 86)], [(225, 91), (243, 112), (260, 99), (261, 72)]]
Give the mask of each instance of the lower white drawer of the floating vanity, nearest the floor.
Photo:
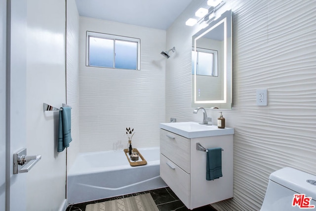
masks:
[(190, 207), (190, 174), (160, 153), (160, 177), (188, 208)]

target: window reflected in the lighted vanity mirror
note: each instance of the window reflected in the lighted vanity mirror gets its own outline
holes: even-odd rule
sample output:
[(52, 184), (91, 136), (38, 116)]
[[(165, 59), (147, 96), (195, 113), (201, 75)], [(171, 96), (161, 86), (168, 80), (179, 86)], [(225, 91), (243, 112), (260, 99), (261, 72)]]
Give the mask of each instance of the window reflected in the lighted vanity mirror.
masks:
[(198, 48), (192, 50), (192, 75), (195, 70), (195, 59), (197, 59), (196, 71), (200, 76), (218, 76), (217, 50)]

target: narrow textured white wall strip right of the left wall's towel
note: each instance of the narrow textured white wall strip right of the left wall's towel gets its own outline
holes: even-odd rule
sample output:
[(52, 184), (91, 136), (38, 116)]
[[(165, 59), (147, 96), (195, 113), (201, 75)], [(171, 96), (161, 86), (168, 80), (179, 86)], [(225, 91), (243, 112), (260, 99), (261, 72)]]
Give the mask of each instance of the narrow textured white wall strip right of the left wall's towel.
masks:
[(75, 0), (67, 0), (66, 71), (67, 104), (71, 106), (72, 138), (67, 148), (67, 169), (79, 153), (79, 14)]

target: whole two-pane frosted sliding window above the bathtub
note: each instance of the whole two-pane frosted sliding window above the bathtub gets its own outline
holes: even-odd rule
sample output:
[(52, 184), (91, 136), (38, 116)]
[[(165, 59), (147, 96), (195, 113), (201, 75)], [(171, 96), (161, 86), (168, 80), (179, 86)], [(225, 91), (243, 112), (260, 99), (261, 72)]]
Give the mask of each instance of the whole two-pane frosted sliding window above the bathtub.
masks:
[(140, 39), (87, 32), (86, 65), (140, 70)]

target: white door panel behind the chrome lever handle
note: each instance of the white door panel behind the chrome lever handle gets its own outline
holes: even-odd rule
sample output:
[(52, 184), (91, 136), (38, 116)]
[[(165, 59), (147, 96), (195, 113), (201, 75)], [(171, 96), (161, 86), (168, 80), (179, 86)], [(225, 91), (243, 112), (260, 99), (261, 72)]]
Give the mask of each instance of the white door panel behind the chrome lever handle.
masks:
[(26, 210), (26, 176), (13, 174), (13, 154), (26, 147), (27, 1), (6, 0), (6, 211)]

